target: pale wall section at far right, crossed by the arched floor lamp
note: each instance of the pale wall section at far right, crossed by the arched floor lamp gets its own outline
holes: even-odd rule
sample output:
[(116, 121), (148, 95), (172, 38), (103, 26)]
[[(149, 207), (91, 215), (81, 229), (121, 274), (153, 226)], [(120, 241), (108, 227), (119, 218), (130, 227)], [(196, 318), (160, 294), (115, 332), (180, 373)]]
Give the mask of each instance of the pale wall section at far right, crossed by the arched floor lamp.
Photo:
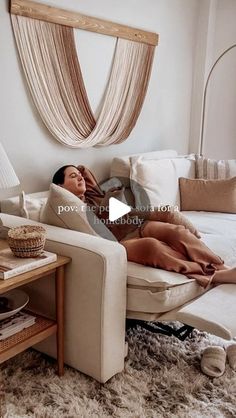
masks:
[[(236, 1), (217, 0), (211, 64), (236, 44)], [(212, 72), (207, 93), (204, 154), (236, 158), (236, 48)]]

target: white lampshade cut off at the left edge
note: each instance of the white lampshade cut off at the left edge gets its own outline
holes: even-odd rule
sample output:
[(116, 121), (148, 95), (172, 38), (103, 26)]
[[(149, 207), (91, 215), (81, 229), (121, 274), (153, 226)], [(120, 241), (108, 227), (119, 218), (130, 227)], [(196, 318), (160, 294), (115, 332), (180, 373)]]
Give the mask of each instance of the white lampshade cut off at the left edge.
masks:
[(0, 143), (0, 189), (8, 189), (18, 186), (18, 184), (20, 184), (20, 181)]

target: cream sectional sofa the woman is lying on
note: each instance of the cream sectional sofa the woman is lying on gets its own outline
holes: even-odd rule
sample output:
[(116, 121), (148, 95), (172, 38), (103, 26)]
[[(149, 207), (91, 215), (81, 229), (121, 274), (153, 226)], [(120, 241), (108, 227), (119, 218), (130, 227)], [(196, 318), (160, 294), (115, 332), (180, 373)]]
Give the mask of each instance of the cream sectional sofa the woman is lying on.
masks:
[[(176, 153), (153, 152), (142, 156), (155, 160), (175, 157)], [(129, 157), (114, 159), (111, 176), (126, 179), (127, 189), (129, 170)], [(40, 194), (35, 196), (40, 198)], [(126, 196), (132, 199), (130, 190)], [(16, 199), (2, 202), (2, 212), (14, 213), (2, 213), (3, 224), (14, 227), (35, 222), (16, 216), (15, 202)], [(201, 232), (203, 241), (226, 264), (236, 265), (236, 215), (209, 212), (185, 215)], [(44, 226), (46, 249), (72, 258), (66, 274), (65, 361), (68, 365), (100, 382), (122, 371), (126, 317), (152, 321), (178, 319), (226, 339), (236, 336), (235, 285), (221, 285), (206, 292), (195, 280), (181, 274), (127, 262), (119, 243)], [(52, 281), (43, 279), (27, 291), (35, 309), (55, 315)], [(53, 338), (37, 348), (56, 356)]]

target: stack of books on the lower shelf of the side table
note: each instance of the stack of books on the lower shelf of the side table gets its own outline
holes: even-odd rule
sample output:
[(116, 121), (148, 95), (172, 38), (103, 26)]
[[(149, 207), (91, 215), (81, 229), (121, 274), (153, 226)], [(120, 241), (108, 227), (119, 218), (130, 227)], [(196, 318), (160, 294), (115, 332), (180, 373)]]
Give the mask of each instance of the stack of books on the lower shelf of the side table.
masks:
[(18, 312), (0, 321), (0, 341), (22, 331), (24, 328), (30, 327), (35, 321), (35, 316), (25, 312)]

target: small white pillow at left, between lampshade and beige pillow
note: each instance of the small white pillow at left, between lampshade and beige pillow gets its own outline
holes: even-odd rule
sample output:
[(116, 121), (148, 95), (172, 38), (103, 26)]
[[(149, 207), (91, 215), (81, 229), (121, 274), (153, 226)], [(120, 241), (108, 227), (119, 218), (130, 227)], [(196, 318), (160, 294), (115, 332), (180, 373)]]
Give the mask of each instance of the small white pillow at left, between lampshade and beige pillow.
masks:
[(46, 201), (47, 197), (33, 198), (22, 191), (19, 195), (20, 216), (38, 222)]

